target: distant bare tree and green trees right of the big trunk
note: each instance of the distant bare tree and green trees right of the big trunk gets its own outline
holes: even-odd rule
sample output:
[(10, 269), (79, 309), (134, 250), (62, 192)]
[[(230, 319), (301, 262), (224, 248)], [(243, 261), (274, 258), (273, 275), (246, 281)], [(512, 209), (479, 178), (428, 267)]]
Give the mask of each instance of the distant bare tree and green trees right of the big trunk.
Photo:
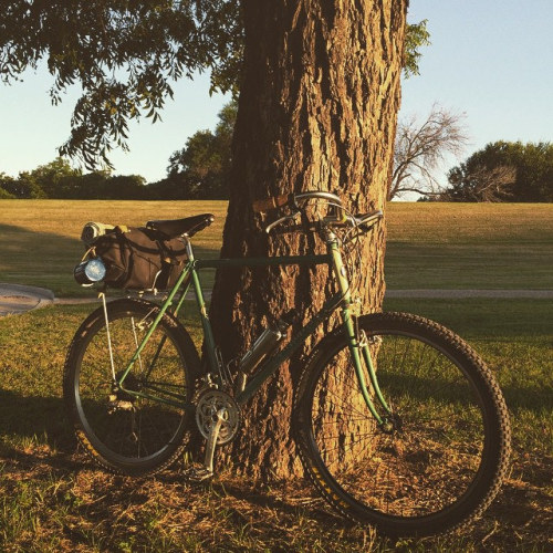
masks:
[(447, 155), (468, 143), (463, 114), (434, 105), (425, 121), (398, 122), (388, 200), (408, 192), (421, 201), (553, 201), (553, 144), (499, 140), (437, 178)]

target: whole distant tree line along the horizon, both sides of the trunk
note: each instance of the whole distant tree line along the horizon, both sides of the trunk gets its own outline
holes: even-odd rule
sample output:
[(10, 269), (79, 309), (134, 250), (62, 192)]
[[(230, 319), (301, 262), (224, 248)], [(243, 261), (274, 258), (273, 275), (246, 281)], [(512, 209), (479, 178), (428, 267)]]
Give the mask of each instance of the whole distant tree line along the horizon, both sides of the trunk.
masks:
[[(167, 177), (147, 184), (139, 175), (83, 174), (65, 159), (9, 177), (0, 173), (1, 198), (227, 199), (237, 103), (219, 113), (211, 131), (198, 131), (169, 158)], [(421, 123), (399, 122), (388, 199), (418, 192), (421, 201), (553, 201), (553, 144), (495, 142), (448, 173), (440, 186), (435, 170), (446, 154), (467, 143), (463, 115), (435, 105)]]

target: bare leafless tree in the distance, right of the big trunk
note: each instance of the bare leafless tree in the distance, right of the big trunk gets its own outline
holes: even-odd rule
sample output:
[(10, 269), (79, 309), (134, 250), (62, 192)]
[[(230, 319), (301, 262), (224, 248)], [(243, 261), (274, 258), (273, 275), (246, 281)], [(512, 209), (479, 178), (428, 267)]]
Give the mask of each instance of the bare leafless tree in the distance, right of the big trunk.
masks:
[(465, 149), (468, 137), (463, 119), (465, 114), (435, 104), (421, 125), (416, 116), (398, 123), (388, 200), (405, 192), (442, 192), (435, 173), (447, 154), (458, 156)]

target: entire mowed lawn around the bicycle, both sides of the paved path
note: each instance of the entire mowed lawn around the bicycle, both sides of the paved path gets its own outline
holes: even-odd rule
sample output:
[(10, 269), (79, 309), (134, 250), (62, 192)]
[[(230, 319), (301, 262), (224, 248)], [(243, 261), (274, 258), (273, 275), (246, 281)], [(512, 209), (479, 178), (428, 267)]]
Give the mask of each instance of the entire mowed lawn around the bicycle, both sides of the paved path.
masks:
[[(0, 201), (0, 282), (79, 293), (72, 279), (90, 220), (140, 225), (212, 212), (195, 240), (217, 255), (226, 202)], [(392, 289), (552, 289), (553, 208), (393, 204)], [(469, 530), (390, 541), (352, 528), (301, 482), (255, 484), (221, 467), (194, 487), (177, 465), (156, 478), (107, 474), (76, 451), (61, 398), (65, 352), (91, 305), (0, 319), (0, 551), (549, 552), (553, 550), (553, 300), (388, 299), (451, 326), (504, 392), (512, 469)], [(198, 323), (185, 321), (196, 341)]]

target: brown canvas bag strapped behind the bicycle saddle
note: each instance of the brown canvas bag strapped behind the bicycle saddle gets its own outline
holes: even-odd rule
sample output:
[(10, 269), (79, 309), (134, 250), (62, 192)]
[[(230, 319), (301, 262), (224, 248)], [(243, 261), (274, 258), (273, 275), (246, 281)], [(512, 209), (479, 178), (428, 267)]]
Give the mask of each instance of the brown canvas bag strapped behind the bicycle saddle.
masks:
[(103, 282), (124, 290), (168, 290), (187, 260), (181, 240), (163, 240), (144, 227), (115, 227), (94, 240), (91, 253), (105, 264)]

